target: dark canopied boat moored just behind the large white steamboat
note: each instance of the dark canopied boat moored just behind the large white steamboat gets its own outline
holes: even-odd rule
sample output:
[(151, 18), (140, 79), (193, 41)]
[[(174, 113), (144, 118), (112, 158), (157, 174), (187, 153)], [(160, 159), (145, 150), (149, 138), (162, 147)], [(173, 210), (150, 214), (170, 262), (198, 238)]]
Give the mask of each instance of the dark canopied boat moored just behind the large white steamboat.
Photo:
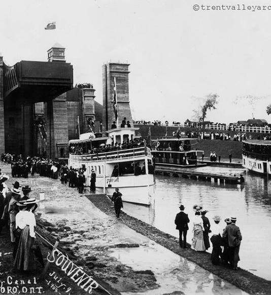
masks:
[(202, 151), (194, 149), (196, 138), (159, 139), (152, 155), (155, 163), (178, 166), (196, 166), (197, 156)]

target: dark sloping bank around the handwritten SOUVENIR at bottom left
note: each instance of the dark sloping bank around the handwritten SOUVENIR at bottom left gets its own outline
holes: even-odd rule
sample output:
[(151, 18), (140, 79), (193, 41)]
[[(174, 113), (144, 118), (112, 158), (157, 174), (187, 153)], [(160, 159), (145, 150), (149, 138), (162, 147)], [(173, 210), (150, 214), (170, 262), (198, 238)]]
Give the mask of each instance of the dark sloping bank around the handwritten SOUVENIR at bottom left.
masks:
[[(37, 218), (37, 232), (51, 242), (55, 243), (55, 239), (44, 229), (45, 225), (53, 226)], [(46, 263), (46, 257), (48, 252), (52, 250), (52, 247), (48, 247), (48, 243), (45, 243), (43, 239), (37, 236), (38, 244), (41, 246), (42, 254), (44, 257), (44, 263)], [(73, 251), (65, 251), (62, 246), (58, 246), (58, 249), (66, 254), (69, 259), (81, 267), (88, 275), (92, 276), (101, 286), (106, 288), (112, 295), (120, 295), (120, 293), (107, 284), (104, 280), (97, 278), (89, 270), (86, 262), (80, 257), (76, 257)], [(71, 278), (67, 277), (64, 272), (55, 264), (50, 264), (50, 267), (43, 280), (40, 279), (40, 275), (43, 272), (43, 267), (36, 261), (36, 270), (31, 272), (19, 272), (13, 267), (13, 246), (10, 242), (9, 230), (4, 228), (0, 235), (0, 294), (66, 294), (66, 295), (85, 295), (87, 292), (77, 286)], [(103, 289), (93, 289), (93, 295), (106, 295), (108, 294)]]

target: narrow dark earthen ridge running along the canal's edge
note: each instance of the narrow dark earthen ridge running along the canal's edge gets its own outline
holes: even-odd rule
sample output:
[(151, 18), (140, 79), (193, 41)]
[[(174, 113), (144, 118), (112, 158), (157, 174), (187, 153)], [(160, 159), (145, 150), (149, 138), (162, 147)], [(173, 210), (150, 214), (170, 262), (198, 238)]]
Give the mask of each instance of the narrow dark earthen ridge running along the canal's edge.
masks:
[[(104, 211), (110, 216), (115, 216), (112, 203), (105, 195), (89, 195), (87, 198), (101, 211)], [(125, 206), (125, 204), (124, 204)], [(122, 222), (144, 236), (154, 240), (158, 244), (167, 249), (185, 257), (186, 259), (196, 263), (200, 267), (212, 272), (213, 274), (221, 277), (222, 279), (232, 283), (240, 289), (251, 294), (270, 294), (271, 281), (259, 278), (248, 271), (239, 269), (233, 271), (224, 266), (214, 266), (210, 260), (210, 253), (196, 252), (192, 249), (181, 249), (179, 241), (176, 237), (161, 232), (160, 230), (142, 222), (141, 220), (131, 217), (126, 213), (121, 213)]]

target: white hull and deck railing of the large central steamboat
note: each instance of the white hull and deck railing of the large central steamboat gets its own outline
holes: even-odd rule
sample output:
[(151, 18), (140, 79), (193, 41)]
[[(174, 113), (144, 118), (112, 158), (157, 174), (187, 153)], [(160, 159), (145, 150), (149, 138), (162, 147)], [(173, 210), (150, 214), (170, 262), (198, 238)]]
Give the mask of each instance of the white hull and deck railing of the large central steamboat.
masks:
[[(85, 186), (90, 187), (91, 171), (96, 173), (96, 192), (113, 195), (116, 188), (122, 193), (125, 202), (149, 205), (154, 195), (153, 174), (122, 174), (112, 177), (114, 167), (125, 166), (125, 163), (141, 162), (148, 167), (147, 161), (152, 161), (149, 149), (145, 151), (144, 146), (132, 150), (121, 150), (117, 152), (101, 153), (99, 155), (70, 155), (69, 166), (80, 168), (85, 166)], [(146, 171), (148, 172), (148, 171)]]

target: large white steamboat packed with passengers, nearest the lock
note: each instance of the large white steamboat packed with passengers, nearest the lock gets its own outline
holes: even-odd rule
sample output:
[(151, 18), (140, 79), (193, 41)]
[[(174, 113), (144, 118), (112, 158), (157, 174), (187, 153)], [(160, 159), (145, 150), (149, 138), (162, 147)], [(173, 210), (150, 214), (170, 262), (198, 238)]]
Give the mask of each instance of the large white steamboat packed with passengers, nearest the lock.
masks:
[(114, 128), (106, 137), (84, 133), (69, 141), (69, 166), (85, 169), (86, 186), (91, 171), (96, 189), (113, 195), (116, 188), (125, 202), (150, 205), (154, 194), (154, 167), (146, 141), (136, 136), (136, 127)]

